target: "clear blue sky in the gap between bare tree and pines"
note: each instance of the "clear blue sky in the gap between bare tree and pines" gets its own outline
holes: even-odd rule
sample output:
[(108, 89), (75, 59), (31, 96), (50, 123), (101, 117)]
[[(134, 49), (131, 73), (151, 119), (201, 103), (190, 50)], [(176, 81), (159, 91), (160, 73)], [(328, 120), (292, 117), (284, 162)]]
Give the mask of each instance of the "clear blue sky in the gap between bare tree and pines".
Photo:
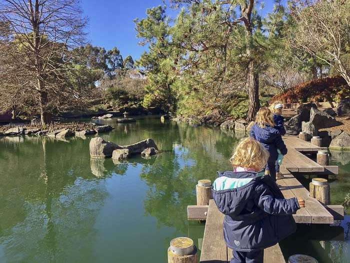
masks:
[[(93, 46), (109, 50), (117, 47), (125, 58), (138, 59), (145, 50), (137, 45), (135, 18), (144, 18), (147, 8), (162, 4), (162, 0), (82, 0), (82, 9), (89, 18), (86, 31)], [(283, 1), (284, 2), (284, 1)], [(272, 10), (272, 1), (264, 1), (263, 12)]]

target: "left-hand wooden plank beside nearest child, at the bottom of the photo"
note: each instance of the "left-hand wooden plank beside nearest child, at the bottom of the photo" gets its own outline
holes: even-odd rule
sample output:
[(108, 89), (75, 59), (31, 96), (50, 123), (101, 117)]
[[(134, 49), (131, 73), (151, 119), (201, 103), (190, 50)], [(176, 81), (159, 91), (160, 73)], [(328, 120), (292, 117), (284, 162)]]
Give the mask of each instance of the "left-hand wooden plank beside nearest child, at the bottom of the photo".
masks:
[(223, 240), (224, 215), (217, 209), (214, 200), (209, 200), (208, 214), (206, 216), (200, 262), (226, 262), (227, 247)]

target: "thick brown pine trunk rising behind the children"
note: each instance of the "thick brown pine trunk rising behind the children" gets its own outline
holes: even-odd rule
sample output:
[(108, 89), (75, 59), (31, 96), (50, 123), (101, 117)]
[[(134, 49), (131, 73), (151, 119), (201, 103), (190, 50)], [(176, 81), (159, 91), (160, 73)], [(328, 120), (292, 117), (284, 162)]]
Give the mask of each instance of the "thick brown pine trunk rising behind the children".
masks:
[(259, 102), (259, 74), (255, 69), (255, 62), (250, 61), (247, 74), (247, 90), (248, 90), (248, 116), (247, 121), (254, 121), (255, 114), (260, 108)]

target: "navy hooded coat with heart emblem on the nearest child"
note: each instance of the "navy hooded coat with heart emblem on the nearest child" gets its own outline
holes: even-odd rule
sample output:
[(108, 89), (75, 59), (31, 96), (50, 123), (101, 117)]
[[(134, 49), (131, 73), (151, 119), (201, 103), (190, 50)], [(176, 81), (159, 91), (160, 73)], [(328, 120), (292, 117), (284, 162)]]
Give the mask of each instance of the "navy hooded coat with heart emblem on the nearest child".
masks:
[(215, 190), (215, 182), (212, 186), (216, 206), (225, 214), (223, 235), (228, 247), (237, 251), (264, 249), (295, 232), (291, 214), (300, 208), (297, 199), (284, 199), (270, 176), (255, 172), (218, 172), (218, 176), (250, 179), (233, 189)]

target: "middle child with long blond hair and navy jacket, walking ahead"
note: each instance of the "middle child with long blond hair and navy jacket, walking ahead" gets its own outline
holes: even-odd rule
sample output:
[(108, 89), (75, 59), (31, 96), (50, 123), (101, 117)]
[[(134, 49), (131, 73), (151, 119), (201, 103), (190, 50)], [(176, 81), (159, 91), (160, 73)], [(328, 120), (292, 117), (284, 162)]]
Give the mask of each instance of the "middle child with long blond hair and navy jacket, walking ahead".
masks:
[(250, 137), (257, 140), (268, 151), (267, 169), (270, 176), (276, 180), (275, 163), (278, 154), (285, 155), (287, 148), (282, 140), (280, 131), (274, 128), (273, 116), (271, 111), (262, 107), (256, 113), (255, 124), (250, 129)]

